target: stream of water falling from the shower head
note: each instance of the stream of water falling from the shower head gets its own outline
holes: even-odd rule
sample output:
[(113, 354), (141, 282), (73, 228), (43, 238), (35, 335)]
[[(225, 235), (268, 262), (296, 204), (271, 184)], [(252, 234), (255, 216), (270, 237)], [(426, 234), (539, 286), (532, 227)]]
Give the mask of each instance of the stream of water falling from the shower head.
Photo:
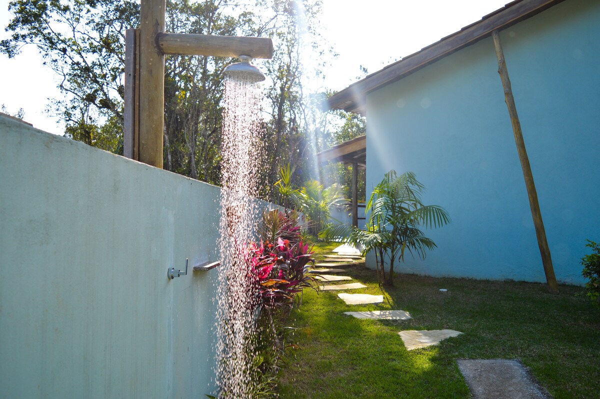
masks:
[[(243, 77), (242, 77), (243, 79)], [(226, 76), (223, 113), (219, 251), (221, 267), (217, 298), (217, 385), (220, 397), (250, 398), (254, 381), (255, 315), (243, 246), (256, 239), (256, 198), (263, 139), (259, 127), (257, 84)]]

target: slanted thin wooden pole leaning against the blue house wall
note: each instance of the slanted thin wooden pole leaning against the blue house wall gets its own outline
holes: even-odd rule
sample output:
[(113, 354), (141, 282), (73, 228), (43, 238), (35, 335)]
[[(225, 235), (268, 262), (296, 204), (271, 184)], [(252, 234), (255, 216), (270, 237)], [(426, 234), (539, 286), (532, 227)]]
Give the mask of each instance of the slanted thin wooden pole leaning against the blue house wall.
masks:
[(502, 79), (506, 106), (508, 107), (508, 113), (511, 116), (512, 131), (515, 134), (517, 151), (519, 153), (519, 159), (521, 160), (521, 168), (523, 169), (523, 176), (525, 178), (525, 185), (529, 196), (529, 206), (531, 208), (535, 233), (536, 236), (538, 236), (539, 252), (542, 255), (542, 263), (544, 264), (548, 290), (550, 290), (551, 293), (558, 293), (559, 288), (556, 283), (556, 275), (554, 275), (554, 267), (552, 266), (550, 248), (548, 247), (548, 241), (546, 239), (546, 230), (544, 229), (542, 212), (539, 209), (538, 193), (535, 190), (535, 182), (533, 181), (529, 157), (527, 157), (527, 151), (525, 149), (523, 131), (521, 131), (521, 123), (519, 122), (519, 117), (517, 115), (517, 106), (515, 106), (515, 99), (512, 95), (511, 80), (508, 77), (508, 70), (506, 69), (506, 61), (504, 59), (502, 44), (500, 43), (499, 32), (492, 32), (492, 37), (494, 39), (494, 47), (496, 47), (496, 57), (498, 58), (498, 73), (500, 74), (500, 79)]

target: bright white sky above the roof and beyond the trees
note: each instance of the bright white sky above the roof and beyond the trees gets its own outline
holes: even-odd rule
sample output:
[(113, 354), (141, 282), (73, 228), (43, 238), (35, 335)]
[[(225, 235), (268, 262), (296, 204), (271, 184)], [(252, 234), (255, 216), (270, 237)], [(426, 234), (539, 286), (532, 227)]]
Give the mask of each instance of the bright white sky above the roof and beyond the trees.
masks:
[[(326, 43), (339, 54), (325, 70), (325, 86), (341, 90), (356, 81), (359, 66), (369, 73), (410, 55), (503, 7), (508, 0), (323, 0), (321, 26)], [(0, 0), (0, 39), (11, 18)], [(64, 127), (45, 110), (61, 96), (56, 77), (37, 50), (25, 46), (14, 59), (0, 55), (0, 105), (9, 113), (25, 111), (34, 127), (62, 134)]]

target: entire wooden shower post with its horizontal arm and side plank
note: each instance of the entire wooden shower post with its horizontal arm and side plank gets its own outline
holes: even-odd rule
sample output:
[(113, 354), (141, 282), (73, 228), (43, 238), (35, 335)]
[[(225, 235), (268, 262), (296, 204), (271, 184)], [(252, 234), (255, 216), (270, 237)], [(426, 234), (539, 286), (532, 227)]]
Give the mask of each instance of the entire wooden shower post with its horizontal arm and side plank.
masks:
[[(273, 42), (164, 32), (166, 0), (141, 0), (140, 28), (125, 37), (124, 155), (163, 167), (164, 55), (272, 58)], [(128, 31), (134, 29), (128, 29)]]

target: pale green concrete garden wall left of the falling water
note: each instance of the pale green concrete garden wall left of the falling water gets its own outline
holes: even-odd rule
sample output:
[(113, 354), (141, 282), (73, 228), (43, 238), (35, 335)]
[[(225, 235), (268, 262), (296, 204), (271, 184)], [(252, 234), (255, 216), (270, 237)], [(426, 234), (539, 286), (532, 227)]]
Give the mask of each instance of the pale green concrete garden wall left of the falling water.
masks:
[(214, 393), (219, 188), (2, 117), (0, 187), (1, 398)]

